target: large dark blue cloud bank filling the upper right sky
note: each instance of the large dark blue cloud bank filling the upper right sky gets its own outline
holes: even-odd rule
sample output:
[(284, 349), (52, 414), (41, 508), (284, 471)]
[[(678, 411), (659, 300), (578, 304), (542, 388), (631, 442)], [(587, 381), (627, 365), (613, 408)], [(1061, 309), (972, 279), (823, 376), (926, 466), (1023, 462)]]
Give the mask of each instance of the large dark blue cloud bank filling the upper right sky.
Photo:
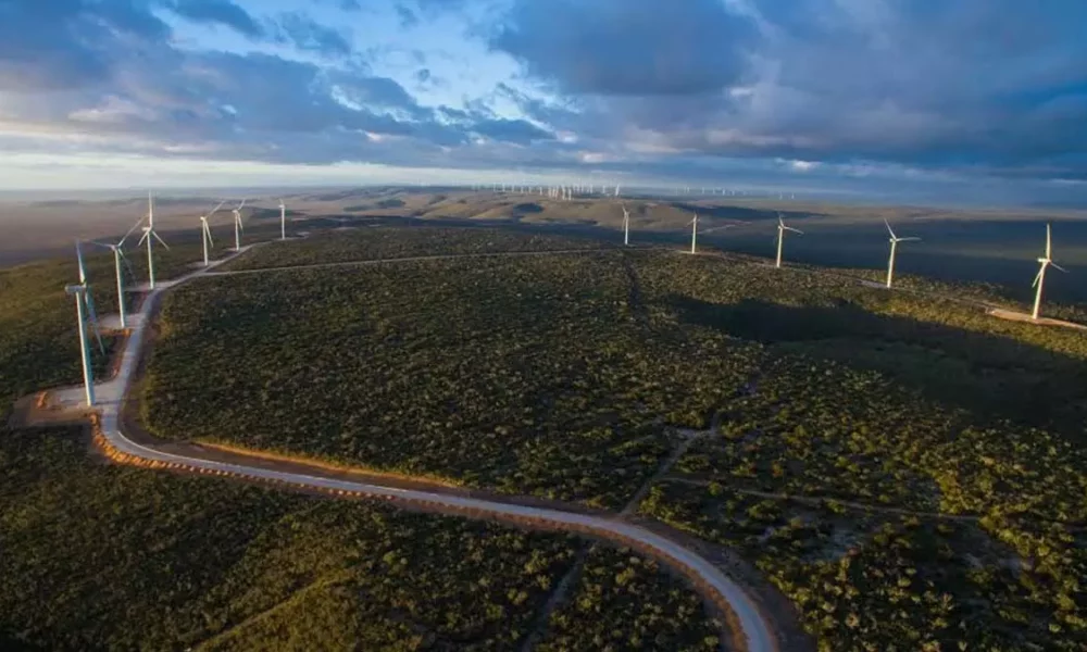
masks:
[(628, 150), (1083, 178), (1085, 24), (1074, 0), (513, 0), (489, 45), (526, 114)]

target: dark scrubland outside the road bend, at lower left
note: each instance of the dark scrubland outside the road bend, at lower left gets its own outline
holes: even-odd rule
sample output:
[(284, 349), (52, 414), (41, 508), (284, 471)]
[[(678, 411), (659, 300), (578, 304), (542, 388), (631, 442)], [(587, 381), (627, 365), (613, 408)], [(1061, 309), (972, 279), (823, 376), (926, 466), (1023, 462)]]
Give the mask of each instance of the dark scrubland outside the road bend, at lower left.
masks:
[[(96, 259), (91, 274), (110, 265)], [(16, 397), (79, 377), (63, 294), (75, 268), (0, 275), (0, 648), (516, 649), (586, 544), (110, 466), (79, 428), (12, 430)], [(654, 628), (703, 637), (697, 595), (638, 564), (651, 568), (639, 602), (665, 614)], [(699, 609), (675, 613), (677, 600)], [(611, 609), (594, 623), (621, 617)]]

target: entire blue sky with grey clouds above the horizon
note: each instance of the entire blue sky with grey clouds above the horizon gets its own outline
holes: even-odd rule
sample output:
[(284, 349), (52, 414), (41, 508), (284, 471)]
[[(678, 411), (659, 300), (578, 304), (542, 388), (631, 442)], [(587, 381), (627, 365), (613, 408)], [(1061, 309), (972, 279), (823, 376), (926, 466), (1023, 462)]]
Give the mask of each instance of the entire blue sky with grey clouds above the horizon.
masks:
[(1083, 0), (0, 0), (0, 190), (1087, 205)]

